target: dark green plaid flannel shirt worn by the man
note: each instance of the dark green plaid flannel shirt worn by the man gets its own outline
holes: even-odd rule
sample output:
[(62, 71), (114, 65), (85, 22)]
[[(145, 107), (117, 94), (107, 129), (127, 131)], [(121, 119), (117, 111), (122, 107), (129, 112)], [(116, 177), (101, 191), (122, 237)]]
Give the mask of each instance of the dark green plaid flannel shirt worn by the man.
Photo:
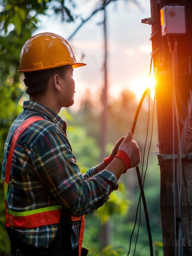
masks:
[[(103, 170), (97, 173), (97, 168), (93, 167), (82, 174), (65, 134), (65, 121), (53, 110), (34, 101), (24, 101), (23, 108), (5, 141), (3, 181), (11, 138), (16, 128), (34, 115), (46, 121), (31, 124), (18, 139), (12, 159), (8, 208), (20, 212), (60, 204), (64, 213), (82, 216), (107, 202), (109, 182), (117, 185), (113, 172)], [(57, 228), (58, 224), (54, 224), (15, 230), (27, 245), (47, 248)], [(73, 248), (78, 245), (78, 237), (79, 221), (76, 221), (71, 231)]]

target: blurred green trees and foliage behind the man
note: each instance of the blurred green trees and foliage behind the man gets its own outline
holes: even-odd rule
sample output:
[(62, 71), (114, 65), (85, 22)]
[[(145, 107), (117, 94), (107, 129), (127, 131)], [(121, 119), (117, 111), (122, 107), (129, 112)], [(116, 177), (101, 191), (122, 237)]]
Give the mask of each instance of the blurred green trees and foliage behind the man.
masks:
[[(74, 23), (80, 20), (77, 27), (79, 30), (95, 13), (103, 12), (101, 23), (106, 35), (107, 7), (112, 2), (118, 4), (122, 1), (127, 3), (131, 0), (84, 0), (81, 9), (83, 4), (94, 2), (89, 18), (84, 20), (81, 13), (74, 14), (78, 13), (79, 4), (75, 0), (0, 0), (0, 165), (9, 126), (22, 111), (23, 100), (28, 99), (23, 76), (19, 75), (17, 70), (20, 50), (31, 35), (37, 34), (36, 31), (40, 29), (38, 21), (48, 16), (51, 9), (55, 17), (60, 17), (60, 22)], [(132, 2), (140, 7), (139, 1)], [(81, 61), (84, 61), (84, 54)], [(87, 90), (84, 97), (78, 99), (78, 109), (68, 108), (60, 112), (67, 122), (68, 138), (82, 172), (107, 157), (117, 139), (132, 129), (139, 104), (135, 93), (128, 89), (122, 90), (119, 97), (108, 94), (105, 50), (103, 63), (103, 83), (97, 93), (97, 101), (93, 101), (90, 91)], [(155, 146), (158, 144), (155, 110), (154, 97), (148, 93), (139, 113), (134, 138), (141, 149), (139, 168), (148, 206), (153, 251), (155, 256), (162, 256), (160, 170), (157, 157), (150, 155), (150, 150), (157, 150)], [(119, 190), (110, 195), (110, 200), (104, 207), (86, 216), (83, 246), (88, 247), (90, 256), (150, 255), (148, 231), (135, 168), (121, 177)], [(9, 254), (9, 247), (1, 181), (0, 256)]]

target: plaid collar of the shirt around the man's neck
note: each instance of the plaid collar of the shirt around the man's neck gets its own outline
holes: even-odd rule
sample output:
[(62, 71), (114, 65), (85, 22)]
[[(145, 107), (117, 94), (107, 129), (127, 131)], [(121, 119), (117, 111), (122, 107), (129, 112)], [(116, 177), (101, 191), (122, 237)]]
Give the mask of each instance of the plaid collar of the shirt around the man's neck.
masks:
[(46, 106), (36, 102), (36, 101), (24, 101), (23, 103), (23, 109), (34, 111), (37, 113), (41, 113), (45, 115), (50, 121), (54, 122), (58, 126), (60, 126), (61, 129), (63, 127), (66, 127), (65, 121), (60, 117), (56, 112), (51, 110), (50, 108), (47, 108)]

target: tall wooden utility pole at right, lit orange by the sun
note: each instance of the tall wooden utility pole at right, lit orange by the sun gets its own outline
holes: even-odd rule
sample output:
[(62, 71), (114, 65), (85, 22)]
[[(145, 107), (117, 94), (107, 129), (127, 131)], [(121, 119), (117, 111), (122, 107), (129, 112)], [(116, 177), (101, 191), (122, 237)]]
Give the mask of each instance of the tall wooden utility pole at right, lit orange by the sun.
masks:
[[(150, 6), (151, 18), (142, 22), (152, 25), (150, 39), (156, 79), (163, 252), (164, 256), (190, 256), (192, 255), (192, 1), (150, 0)], [(168, 15), (166, 20), (162, 20), (160, 16), (161, 9), (163, 9), (162, 15), (165, 13)], [(176, 20), (173, 23), (175, 25), (172, 25), (168, 31), (168, 23), (178, 16), (177, 12), (179, 12), (179, 23)], [(183, 19), (185, 31), (182, 27)], [(165, 35), (162, 35), (161, 31), (163, 25), (167, 26)]]

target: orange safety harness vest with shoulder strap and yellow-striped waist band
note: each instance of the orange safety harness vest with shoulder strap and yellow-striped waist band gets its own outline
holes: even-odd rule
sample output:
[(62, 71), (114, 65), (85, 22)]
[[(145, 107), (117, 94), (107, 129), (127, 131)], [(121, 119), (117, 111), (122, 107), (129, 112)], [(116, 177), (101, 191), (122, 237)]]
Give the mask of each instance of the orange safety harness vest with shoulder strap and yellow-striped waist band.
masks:
[[(6, 214), (6, 227), (22, 227), (22, 228), (32, 228), (40, 227), (44, 225), (51, 225), (60, 222), (60, 216), (62, 212), (62, 207), (60, 205), (43, 207), (40, 209), (34, 209), (31, 211), (16, 212), (10, 209), (7, 209), (7, 192), (9, 187), (10, 172), (11, 172), (11, 163), (13, 152), (15, 150), (15, 145), (22, 134), (22, 132), (33, 122), (38, 120), (44, 120), (42, 117), (29, 117), (26, 119), (15, 131), (13, 138), (11, 140), (11, 146), (9, 154), (7, 157), (5, 179), (3, 182), (4, 186), (4, 200), (5, 200), (5, 214)], [(72, 221), (81, 220), (81, 228), (79, 232), (79, 256), (81, 255), (84, 226), (85, 226), (85, 217), (74, 217), (71, 216)]]

